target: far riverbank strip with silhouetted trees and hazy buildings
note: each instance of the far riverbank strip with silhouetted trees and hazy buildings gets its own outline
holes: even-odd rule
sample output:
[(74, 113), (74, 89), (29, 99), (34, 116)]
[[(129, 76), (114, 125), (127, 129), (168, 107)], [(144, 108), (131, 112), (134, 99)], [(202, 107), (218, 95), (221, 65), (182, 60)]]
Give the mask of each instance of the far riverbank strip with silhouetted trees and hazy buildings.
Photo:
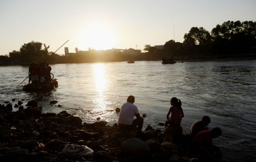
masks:
[[(43, 48), (42, 48), (43, 47)], [(184, 34), (183, 43), (169, 40), (164, 45), (145, 45), (143, 51), (137, 49), (108, 49), (81, 51), (58, 55), (49, 52), (50, 46), (31, 41), (12, 51), (0, 55), (0, 65), (28, 65), (32, 62), (49, 64), (123, 62), (162, 60), (174, 58), (175, 61), (210, 61), (226, 58), (256, 57), (256, 21), (226, 21), (217, 24), (210, 32), (203, 27), (192, 27)]]

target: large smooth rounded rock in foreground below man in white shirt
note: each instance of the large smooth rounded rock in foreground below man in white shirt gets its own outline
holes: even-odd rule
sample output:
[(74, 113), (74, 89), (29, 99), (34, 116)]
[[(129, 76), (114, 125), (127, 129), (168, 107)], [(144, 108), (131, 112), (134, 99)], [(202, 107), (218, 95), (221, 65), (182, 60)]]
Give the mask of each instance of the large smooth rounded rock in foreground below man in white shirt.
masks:
[(121, 144), (124, 153), (141, 156), (150, 153), (150, 146), (141, 139), (130, 138)]

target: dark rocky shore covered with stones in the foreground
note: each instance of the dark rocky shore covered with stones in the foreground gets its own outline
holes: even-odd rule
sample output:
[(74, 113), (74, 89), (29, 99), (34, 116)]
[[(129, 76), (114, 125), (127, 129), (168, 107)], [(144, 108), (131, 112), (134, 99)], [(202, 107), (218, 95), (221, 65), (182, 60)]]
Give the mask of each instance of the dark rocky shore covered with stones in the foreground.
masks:
[(134, 134), (106, 121), (82, 124), (66, 111), (42, 113), (37, 100), (29, 101), (26, 109), (18, 101), (16, 112), (12, 104), (0, 104), (1, 162), (198, 161), (186, 144), (169, 142), (168, 132), (150, 125)]

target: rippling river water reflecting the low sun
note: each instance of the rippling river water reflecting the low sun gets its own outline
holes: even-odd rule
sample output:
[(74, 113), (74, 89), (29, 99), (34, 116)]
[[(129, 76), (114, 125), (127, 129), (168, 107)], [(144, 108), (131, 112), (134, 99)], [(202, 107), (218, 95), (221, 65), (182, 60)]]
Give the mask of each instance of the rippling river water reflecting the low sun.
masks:
[[(18, 86), (28, 75), (26, 66), (0, 66), (0, 103), (15, 98), (37, 99), (43, 113), (66, 110), (83, 122), (96, 118), (113, 125), (118, 121), (115, 108), (129, 95), (135, 96), (139, 113), (146, 114), (143, 128), (150, 124), (164, 129), (170, 98), (182, 101), (183, 133), (193, 122), (208, 115), (208, 128), (222, 129), (213, 144), (222, 151), (223, 162), (256, 159), (256, 60), (177, 62), (160, 61), (53, 64), (52, 73), (59, 87), (52, 92), (23, 92)], [(26, 83), (25, 83), (26, 82)], [(26, 80), (24, 84), (28, 83)], [(57, 100), (50, 105), (50, 100)], [(14, 109), (15, 111), (16, 109)]]

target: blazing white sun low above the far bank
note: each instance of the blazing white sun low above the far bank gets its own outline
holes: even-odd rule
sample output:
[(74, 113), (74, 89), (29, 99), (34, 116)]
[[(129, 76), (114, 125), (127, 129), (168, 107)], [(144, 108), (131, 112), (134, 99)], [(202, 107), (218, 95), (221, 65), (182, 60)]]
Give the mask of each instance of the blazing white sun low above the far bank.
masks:
[(96, 50), (112, 49), (117, 44), (117, 34), (106, 23), (89, 23), (80, 28), (78, 34), (79, 47)]

